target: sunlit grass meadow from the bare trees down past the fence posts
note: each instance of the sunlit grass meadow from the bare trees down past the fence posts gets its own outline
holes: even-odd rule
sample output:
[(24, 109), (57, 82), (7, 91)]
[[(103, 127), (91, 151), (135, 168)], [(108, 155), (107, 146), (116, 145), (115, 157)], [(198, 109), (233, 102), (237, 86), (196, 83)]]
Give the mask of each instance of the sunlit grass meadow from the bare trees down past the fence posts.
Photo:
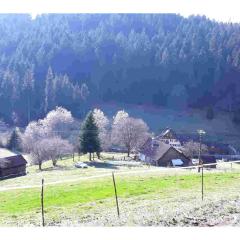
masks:
[[(221, 163), (216, 170), (205, 170), (204, 201), (201, 202), (201, 174), (196, 169), (112, 166), (107, 161), (112, 161), (113, 156), (116, 160), (126, 154), (103, 153), (102, 160), (87, 169), (74, 166), (74, 161), (87, 162), (87, 155), (80, 159), (75, 157), (74, 161), (72, 157), (65, 158), (57, 167), (47, 161), (43, 164), (43, 171), (37, 166), (28, 166), (26, 176), (0, 181), (0, 226), (40, 226), (42, 178), (45, 180), (44, 211), (48, 226), (119, 225), (112, 172), (115, 172), (117, 183), (120, 220), (124, 222), (120, 225), (131, 225), (126, 219), (136, 216), (139, 216), (134, 220), (136, 224), (142, 224), (149, 213), (162, 211), (165, 217), (169, 211), (175, 214), (179, 208), (188, 211), (206, 201), (211, 203), (239, 196), (240, 165), (237, 163), (232, 166)], [(35, 187), (4, 190), (24, 186)], [(154, 217), (149, 216), (146, 224), (151, 225)], [(159, 221), (161, 219), (157, 218), (156, 223)]]

